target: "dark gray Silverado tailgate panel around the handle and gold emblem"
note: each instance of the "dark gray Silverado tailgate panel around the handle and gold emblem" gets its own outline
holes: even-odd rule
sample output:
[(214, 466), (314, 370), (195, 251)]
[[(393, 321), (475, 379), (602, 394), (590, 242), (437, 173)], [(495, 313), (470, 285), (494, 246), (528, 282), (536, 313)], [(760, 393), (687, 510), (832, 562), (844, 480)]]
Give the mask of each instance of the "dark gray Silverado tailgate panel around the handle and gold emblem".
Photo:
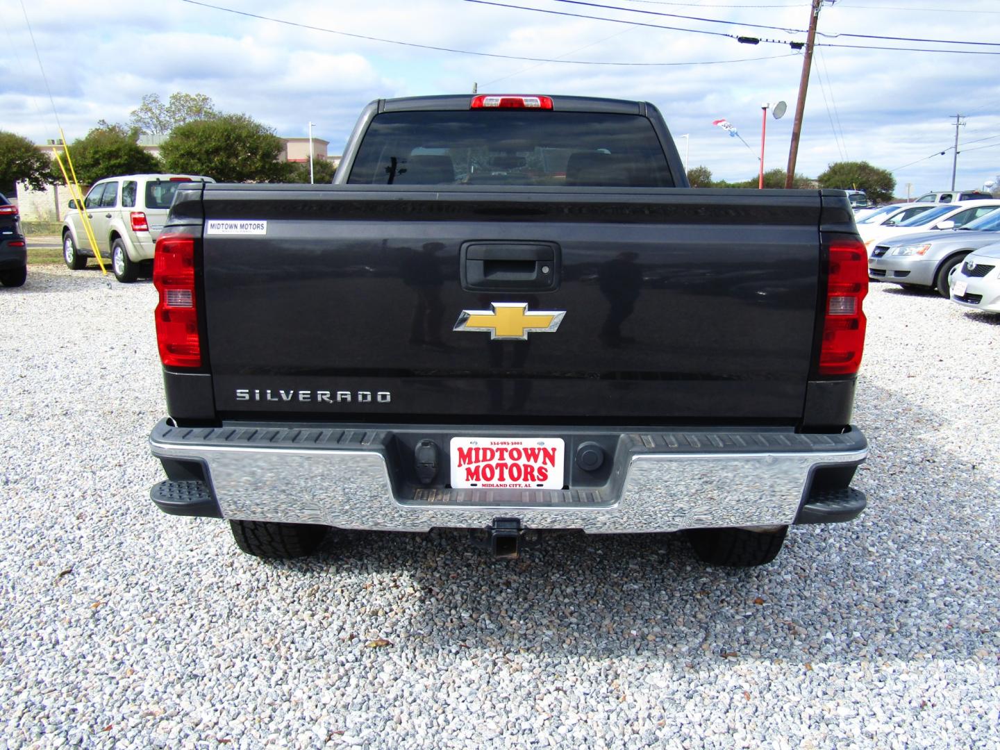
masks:
[[(208, 186), (216, 409), (794, 424), (816, 337), (820, 212), (805, 191)], [(219, 234), (213, 221), (266, 224)], [(470, 243), (553, 248), (557, 288), (463, 288)], [(502, 280), (502, 259), (494, 270)], [(493, 303), (565, 315), (523, 341), (453, 330)]]

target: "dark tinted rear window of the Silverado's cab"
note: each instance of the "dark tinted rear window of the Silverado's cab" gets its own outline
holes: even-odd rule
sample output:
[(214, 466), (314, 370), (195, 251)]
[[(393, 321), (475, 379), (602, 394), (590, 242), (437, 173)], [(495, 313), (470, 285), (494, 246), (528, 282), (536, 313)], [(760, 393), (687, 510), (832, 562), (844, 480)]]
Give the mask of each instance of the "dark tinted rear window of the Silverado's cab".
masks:
[(584, 112), (387, 112), (348, 179), (366, 185), (673, 187), (652, 123)]

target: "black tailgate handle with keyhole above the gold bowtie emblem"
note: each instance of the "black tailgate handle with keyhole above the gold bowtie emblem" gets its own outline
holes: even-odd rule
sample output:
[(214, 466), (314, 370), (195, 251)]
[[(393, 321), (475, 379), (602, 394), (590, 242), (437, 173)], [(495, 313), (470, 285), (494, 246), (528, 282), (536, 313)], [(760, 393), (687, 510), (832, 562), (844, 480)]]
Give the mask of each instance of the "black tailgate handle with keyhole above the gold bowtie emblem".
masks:
[(549, 292), (559, 288), (561, 252), (555, 242), (466, 242), (462, 288), (470, 292)]

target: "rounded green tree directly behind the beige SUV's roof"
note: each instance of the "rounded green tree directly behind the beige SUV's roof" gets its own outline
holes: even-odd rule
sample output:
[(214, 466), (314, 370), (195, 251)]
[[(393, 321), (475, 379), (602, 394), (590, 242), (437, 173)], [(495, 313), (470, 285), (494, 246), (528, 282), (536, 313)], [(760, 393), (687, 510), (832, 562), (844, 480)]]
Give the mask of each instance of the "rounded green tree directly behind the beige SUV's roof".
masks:
[[(92, 185), (105, 177), (121, 174), (158, 172), (160, 163), (155, 156), (140, 148), (139, 131), (124, 125), (109, 125), (104, 120), (97, 123), (84, 138), (73, 141), (69, 147), (73, 168), (81, 185)], [(62, 182), (62, 172), (53, 163), (53, 176)]]

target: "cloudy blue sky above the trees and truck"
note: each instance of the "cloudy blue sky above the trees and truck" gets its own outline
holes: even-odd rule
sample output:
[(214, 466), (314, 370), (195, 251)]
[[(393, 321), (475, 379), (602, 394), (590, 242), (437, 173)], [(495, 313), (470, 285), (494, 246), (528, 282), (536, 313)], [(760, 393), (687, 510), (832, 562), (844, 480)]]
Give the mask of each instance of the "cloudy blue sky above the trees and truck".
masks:
[[(477, 84), (479, 93), (652, 102), (690, 167), (744, 180), (757, 174), (764, 104), (787, 102), (780, 120), (768, 111), (764, 159), (766, 169), (787, 166), (803, 63), (789, 42), (805, 41), (810, 13), (808, 0), (206, 3), (217, 7), (158, 0), (95, 11), (79, 0), (0, 0), (0, 130), (44, 143), (61, 123), (72, 142), (98, 120), (127, 122), (145, 94), (166, 100), (182, 91), (207, 94), (218, 109), (281, 136), (304, 136), (312, 121), (339, 154), (369, 101), (471, 93)], [(815, 177), (833, 162), (868, 161), (893, 173), (898, 196), (948, 189), (962, 114), (956, 187), (1000, 182), (1000, 54), (876, 49), (1000, 53), (997, 0), (824, 2), (818, 32), (796, 171)], [(712, 125), (720, 118), (746, 145)]]

